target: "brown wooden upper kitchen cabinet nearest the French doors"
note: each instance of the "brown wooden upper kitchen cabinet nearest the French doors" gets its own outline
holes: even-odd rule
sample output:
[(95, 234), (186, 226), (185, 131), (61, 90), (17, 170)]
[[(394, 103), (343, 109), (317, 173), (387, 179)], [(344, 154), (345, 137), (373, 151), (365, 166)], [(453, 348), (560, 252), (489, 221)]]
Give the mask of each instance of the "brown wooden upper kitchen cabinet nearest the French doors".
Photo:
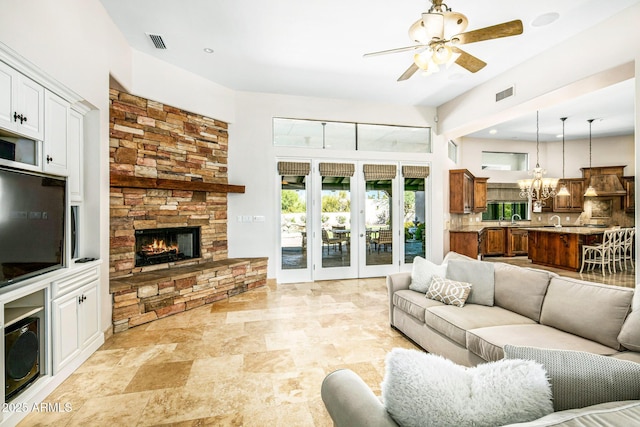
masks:
[(487, 180), (467, 169), (449, 171), (449, 212), (467, 214), (487, 209)]

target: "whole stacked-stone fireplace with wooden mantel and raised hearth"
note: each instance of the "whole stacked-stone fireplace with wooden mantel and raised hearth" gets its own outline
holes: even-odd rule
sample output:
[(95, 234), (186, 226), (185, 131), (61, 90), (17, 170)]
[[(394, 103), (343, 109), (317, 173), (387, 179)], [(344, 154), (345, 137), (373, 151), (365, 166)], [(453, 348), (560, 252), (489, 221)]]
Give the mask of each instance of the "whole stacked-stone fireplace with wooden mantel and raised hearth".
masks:
[(266, 284), (266, 258), (229, 259), (227, 124), (110, 91), (114, 332)]

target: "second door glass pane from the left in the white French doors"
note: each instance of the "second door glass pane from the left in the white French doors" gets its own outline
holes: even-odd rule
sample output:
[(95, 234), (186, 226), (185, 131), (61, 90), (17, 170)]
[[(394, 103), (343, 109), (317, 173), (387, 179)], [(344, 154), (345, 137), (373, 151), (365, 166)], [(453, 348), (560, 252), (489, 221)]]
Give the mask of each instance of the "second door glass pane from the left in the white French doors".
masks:
[(322, 177), (322, 267), (351, 265), (351, 178)]

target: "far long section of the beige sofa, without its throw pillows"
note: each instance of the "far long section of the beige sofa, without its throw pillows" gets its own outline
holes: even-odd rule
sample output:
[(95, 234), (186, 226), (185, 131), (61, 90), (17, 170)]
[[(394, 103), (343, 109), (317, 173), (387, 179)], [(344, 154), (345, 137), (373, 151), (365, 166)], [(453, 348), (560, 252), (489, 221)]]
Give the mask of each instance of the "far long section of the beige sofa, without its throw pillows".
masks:
[[(450, 260), (475, 261), (450, 252)], [(494, 265), (494, 305), (446, 305), (409, 289), (411, 273), (387, 277), (392, 327), (430, 353), (475, 366), (500, 360), (505, 344), (586, 351), (640, 362), (619, 341), (634, 290)], [(472, 291), (473, 292), (473, 291)]]

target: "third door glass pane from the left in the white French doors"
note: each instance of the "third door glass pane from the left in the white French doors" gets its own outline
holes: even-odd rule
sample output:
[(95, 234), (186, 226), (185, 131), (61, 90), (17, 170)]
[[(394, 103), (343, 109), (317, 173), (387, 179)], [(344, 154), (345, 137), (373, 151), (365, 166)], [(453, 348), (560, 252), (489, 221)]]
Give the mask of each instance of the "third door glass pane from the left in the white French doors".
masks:
[(367, 265), (383, 265), (393, 262), (391, 218), (392, 181), (382, 179), (367, 181), (365, 200)]

